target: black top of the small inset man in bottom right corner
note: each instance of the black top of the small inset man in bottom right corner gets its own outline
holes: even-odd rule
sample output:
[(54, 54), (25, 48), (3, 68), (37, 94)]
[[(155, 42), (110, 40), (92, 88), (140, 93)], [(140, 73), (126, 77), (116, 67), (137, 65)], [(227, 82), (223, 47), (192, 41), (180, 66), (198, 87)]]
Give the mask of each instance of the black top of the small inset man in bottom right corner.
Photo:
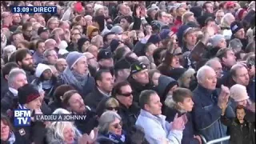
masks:
[(230, 144), (254, 144), (254, 124), (251, 122), (243, 122), (242, 124), (237, 118), (229, 119), (224, 116), (221, 117), (221, 121), (225, 126), (228, 126), (230, 134)]

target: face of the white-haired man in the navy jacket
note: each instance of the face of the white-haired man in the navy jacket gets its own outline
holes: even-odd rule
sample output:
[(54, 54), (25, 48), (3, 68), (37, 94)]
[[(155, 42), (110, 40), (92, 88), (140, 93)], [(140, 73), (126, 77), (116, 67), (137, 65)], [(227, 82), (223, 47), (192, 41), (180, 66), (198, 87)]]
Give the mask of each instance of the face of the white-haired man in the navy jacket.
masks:
[(215, 90), (217, 85), (217, 75), (214, 70), (206, 70), (205, 76), (198, 82), (208, 90)]

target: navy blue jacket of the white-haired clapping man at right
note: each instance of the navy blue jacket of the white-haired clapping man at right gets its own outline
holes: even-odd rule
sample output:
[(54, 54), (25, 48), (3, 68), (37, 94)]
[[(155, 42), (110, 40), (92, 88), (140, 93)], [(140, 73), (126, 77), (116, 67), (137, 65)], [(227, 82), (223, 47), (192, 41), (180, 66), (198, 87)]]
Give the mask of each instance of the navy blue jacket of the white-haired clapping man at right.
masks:
[[(220, 121), (222, 109), (217, 105), (218, 94), (219, 90), (207, 90), (199, 84), (193, 91), (192, 116), (195, 128), (206, 138), (207, 142), (226, 136), (226, 126)], [(235, 117), (230, 104), (226, 108), (226, 117)]]

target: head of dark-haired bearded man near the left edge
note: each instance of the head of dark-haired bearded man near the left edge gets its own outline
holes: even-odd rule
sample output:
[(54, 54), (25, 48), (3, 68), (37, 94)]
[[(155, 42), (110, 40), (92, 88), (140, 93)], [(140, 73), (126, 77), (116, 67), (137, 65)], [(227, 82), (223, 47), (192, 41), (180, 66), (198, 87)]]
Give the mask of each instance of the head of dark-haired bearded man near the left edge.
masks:
[(23, 70), (34, 70), (34, 61), (30, 50), (19, 49), (16, 51), (15, 60)]

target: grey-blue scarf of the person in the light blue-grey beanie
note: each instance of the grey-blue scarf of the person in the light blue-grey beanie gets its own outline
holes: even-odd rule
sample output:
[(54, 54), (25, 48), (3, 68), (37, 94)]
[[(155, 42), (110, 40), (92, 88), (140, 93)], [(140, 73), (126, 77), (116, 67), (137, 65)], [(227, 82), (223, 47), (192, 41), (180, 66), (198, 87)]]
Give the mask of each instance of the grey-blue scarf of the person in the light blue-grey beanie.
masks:
[(63, 71), (61, 78), (68, 84), (78, 86), (79, 90), (83, 90), (83, 86), (86, 85), (88, 75), (87, 74), (78, 74), (74, 70), (70, 70), (68, 67)]

